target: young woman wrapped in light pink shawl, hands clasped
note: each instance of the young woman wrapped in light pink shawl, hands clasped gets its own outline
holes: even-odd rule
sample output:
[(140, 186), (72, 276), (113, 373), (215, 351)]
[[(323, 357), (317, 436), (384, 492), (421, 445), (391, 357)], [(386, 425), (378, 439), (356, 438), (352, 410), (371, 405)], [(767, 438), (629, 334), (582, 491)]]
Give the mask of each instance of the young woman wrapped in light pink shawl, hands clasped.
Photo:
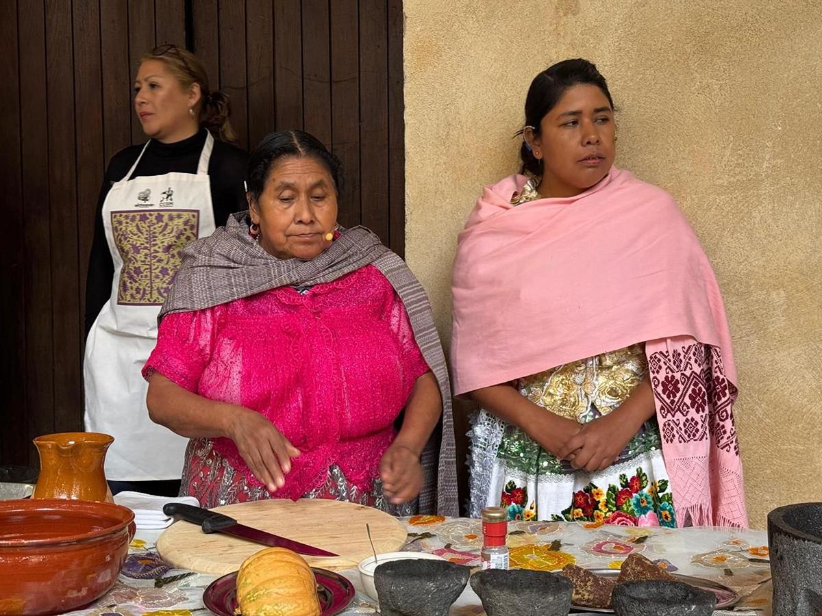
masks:
[(487, 186), (459, 235), (471, 514), (747, 526), (722, 296), (671, 195), (613, 166), (613, 108), (590, 62), (539, 73), (522, 174)]

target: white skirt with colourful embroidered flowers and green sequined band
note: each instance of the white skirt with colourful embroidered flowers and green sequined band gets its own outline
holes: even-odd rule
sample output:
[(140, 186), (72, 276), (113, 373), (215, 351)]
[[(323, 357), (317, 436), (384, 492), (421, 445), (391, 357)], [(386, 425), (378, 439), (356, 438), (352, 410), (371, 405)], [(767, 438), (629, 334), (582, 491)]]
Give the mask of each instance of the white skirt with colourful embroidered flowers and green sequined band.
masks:
[[(596, 416), (592, 408), (588, 420)], [(483, 507), (501, 506), (509, 520), (677, 526), (656, 418), (615, 464), (593, 473), (575, 470), (487, 411), (478, 411), (472, 424), (471, 517)]]

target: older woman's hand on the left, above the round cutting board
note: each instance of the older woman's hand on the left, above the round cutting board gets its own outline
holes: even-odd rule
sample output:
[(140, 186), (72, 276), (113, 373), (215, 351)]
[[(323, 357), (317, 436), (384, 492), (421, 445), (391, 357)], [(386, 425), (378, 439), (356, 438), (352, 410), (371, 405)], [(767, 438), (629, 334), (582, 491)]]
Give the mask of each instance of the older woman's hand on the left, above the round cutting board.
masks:
[(293, 446), (265, 416), (243, 407), (236, 412), (227, 430), (237, 449), (254, 476), (276, 492), (285, 484), (285, 475), (291, 470), (291, 458), (300, 450)]

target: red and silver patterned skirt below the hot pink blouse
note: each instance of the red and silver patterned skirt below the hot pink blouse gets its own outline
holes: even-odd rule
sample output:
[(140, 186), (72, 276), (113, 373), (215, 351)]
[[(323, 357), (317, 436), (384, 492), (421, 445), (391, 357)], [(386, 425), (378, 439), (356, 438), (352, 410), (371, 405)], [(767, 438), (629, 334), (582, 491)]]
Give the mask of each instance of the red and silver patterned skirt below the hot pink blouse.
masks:
[[(201, 507), (210, 509), (231, 503), (276, 498), (266, 488), (252, 484), (244, 473), (237, 472), (231, 463), (214, 447), (211, 439), (191, 439), (186, 451), (180, 485), (182, 496), (194, 496)], [(343, 471), (331, 464), (326, 480), (302, 495), (303, 499), (344, 500), (381, 509), (392, 516), (410, 516), (417, 513), (417, 499), (395, 505), (386, 499), (382, 480), (376, 477), (371, 490), (364, 491), (347, 480)]]

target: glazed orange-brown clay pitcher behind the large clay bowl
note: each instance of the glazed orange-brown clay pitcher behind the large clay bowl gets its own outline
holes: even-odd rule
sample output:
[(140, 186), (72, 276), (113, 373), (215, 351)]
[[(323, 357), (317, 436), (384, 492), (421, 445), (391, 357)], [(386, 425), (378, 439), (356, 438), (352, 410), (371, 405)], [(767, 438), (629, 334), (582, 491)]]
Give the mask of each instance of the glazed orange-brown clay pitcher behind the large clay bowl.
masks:
[(31, 498), (112, 503), (103, 462), (113, 442), (113, 436), (96, 432), (38, 436), (34, 443), (40, 454), (40, 476)]

